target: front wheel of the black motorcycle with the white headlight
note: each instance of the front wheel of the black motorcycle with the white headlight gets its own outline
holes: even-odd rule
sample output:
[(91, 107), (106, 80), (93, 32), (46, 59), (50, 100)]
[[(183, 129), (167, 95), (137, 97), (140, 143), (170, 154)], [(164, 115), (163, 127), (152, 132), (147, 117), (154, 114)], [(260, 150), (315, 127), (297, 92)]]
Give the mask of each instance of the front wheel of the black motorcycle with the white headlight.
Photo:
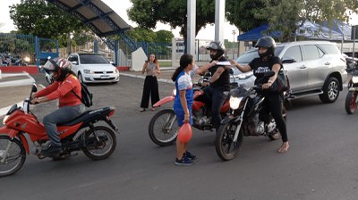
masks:
[(222, 124), (217, 131), (215, 139), (215, 149), (217, 155), (223, 161), (233, 160), (239, 154), (240, 147), (243, 144), (243, 131), (240, 130), (236, 142), (234, 142), (234, 132), (237, 124)]

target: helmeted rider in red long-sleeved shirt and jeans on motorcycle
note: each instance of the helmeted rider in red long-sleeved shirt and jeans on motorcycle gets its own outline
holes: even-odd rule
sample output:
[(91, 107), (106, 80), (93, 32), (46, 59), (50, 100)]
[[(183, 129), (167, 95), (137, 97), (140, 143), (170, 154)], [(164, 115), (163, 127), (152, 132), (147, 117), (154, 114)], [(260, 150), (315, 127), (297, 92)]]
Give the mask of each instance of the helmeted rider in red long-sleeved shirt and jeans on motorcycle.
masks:
[(72, 121), (85, 111), (85, 106), (81, 102), (80, 80), (71, 71), (71, 65), (66, 59), (49, 59), (43, 69), (55, 79), (55, 82), (32, 94), (31, 104), (59, 100), (59, 108), (47, 114), (44, 118), (47, 136), (51, 142), (41, 154), (51, 156), (62, 152), (61, 139), (56, 127), (57, 123)]

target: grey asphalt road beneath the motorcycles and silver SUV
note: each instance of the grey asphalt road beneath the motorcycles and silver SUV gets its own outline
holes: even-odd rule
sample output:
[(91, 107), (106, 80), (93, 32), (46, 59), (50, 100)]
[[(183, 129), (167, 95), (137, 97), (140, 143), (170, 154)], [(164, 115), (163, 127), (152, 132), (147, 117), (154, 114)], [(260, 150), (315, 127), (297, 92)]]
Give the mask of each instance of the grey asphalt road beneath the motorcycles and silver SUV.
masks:
[[(279, 141), (245, 137), (238, 158), (221, 162), (214, 135), (194, 130), (190, 149), (199, 156), (177, 167), (175, 146), (158, 147), (148, 137), (155, 112), (139, 112), (143, 79), (123, 77), (115, 85), (94, 85), (95, 106), (115, 105), (118, 146), (109, 159), (84, 154), (54, 162), (30, 155), (23, 168), (0, 180), (1, 199), (356, 199), (358, 115), (347, 115), (346, 92), (335, 104), (318, 97), (296, 100), (288, 110), (288, 154)], [(172, 84), (159, 86), (160, 96)], [(37, 106), (41, 116), (54, 103)]]

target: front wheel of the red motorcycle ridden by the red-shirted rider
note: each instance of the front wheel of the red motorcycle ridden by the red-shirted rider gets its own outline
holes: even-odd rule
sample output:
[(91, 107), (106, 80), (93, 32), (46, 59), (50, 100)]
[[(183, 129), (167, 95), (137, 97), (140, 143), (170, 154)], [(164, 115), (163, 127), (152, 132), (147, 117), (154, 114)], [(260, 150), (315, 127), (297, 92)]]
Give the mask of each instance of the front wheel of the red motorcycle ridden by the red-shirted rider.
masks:
[[(4, 155), (4, 151), (8, 146), (10, 137), (0, 136), (0, 177), (12, 175), (16, 171), (19, 171), (26, 160), (25, 148), (21, 142), (14, 138), (13, 144), (7, 155)], [(1, 162), (5, 156), (4, 162)]]

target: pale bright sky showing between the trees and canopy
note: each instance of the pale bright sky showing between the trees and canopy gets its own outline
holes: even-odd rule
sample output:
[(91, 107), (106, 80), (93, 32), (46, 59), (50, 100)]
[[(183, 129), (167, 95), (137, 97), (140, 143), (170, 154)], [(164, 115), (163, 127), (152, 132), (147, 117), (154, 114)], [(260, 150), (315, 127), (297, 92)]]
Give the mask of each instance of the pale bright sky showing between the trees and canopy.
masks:
[[(132, 27), (137, 27), (138, 25), (134, 21), (130, 21), (127, 16), (126, 10), (132, 6), (132, 3), (129, 0), (102, 0), (104, 3), (106, 3), (112, 10), (117, 12), (117, 14), (124, 19), (129, 25)], [(11, 30), (15, 29), (13, 26), (13, 21), (10, 19), (9, 16), (9, 6), (12, 4), (20, 4), (20, 0), (2, 0), (1, 6), (0, 6), (0, 24), (3, 24), (3, 26), (0, 28), (0, 32), (10, 32)], [(353, 20), (350, 21), (353, 25), (358, 25), (358, 15), (354, 15)], [(179, 35), (179, 28), (176, 29), (170, 29), (169, 25), (163, 24), (158, 22), (157, 23), (157, 29), (154, 29), (155, 31), (158, 31), (159, 29), (166, 29), (166, 30), (172, 30), (175, 37), (180, 37)], [(228, 39), (229, 41), (236, 41), (237, 35), (239, 30), (233, 26), (230, 25), (227, 21), (225, 23), (225, 29), (227, 31), (224, 31), (224, 38)], [(233, 35), (233, 30), (235, 30), (236, 34)], [(197, 39), (208, 39), (213, 40), (215, 37), (215, 26), (214, 25), (208, 25), (205, 29), (201, 29), (196, 36)]]

